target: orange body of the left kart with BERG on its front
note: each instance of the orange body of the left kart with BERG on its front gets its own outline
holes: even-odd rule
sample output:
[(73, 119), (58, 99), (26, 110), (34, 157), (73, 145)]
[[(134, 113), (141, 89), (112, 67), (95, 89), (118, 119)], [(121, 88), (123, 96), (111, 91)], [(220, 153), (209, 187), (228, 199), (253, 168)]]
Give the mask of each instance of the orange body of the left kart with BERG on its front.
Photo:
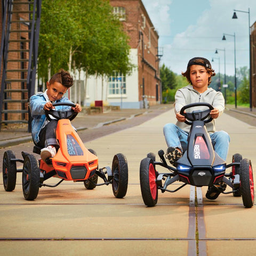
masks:
[(40, 169), (57, 173), (54, 177), (64, 180), (84, 181), (95, 174), (98, 157), (84, 146), (69, 119), (58, 121), (56, 136), (60, 148), (52, 158), (52, 166), (40, 161)]

